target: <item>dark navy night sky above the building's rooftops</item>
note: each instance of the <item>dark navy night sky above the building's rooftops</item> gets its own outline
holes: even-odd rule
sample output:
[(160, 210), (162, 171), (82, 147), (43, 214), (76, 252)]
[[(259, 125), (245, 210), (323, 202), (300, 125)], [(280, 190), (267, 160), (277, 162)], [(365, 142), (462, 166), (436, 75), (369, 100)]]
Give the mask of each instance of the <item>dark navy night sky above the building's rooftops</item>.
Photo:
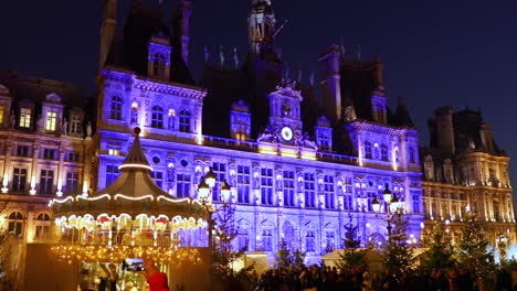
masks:
[[(177, 1), (163, 1), (169, 18)], [(317, 56), (333, 43), (342, 43), (349, 57), (360, 45), (363, 60), (384, 60), (390, 104), (405, 98), (422, 143), (436, 107), (482, 108), (498, 146), (517, 160), (517, 1), (272, 1), (278, 22), (288, 20), (277, 43), (293, 77), (298, 68), (306, 82), (310, 71), (318, 74)], [(193, 2), (190, 66), (199, 80), (205, 44), (212, 57), (222, 44), (228, 62), (234, 46), (245, 52), (251, 0)], [(122, 11), (128, 4), (119, 0)], [(94, 93), (99, 0), (6, 0), (0, 11), (0, 72), (15, 67)], [(517, 161), (511, 177), (517, 181)]]

